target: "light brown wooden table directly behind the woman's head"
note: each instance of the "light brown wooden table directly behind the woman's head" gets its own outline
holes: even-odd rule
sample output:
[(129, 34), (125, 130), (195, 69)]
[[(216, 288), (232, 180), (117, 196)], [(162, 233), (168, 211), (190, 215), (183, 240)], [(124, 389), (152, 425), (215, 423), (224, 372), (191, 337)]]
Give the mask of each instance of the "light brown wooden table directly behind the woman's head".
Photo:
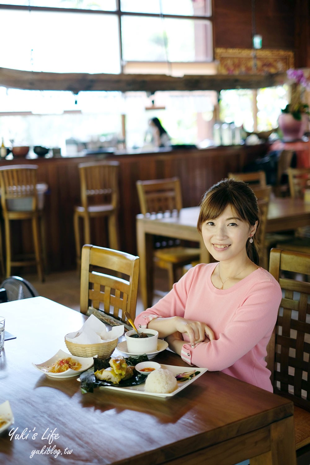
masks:
[[(182, 208), (178, 213), (137, 215), (137, 249), (140, 257), (139, 290), (144, 308), (153, 299), (153, 235), (198, 242), (200, 262), (210, 263), (211, 255), (197, 231), (199, 207)], [(266, 233), (310, 226), (310, 204), (303, 199), (272, 197), (268, 207)]]

